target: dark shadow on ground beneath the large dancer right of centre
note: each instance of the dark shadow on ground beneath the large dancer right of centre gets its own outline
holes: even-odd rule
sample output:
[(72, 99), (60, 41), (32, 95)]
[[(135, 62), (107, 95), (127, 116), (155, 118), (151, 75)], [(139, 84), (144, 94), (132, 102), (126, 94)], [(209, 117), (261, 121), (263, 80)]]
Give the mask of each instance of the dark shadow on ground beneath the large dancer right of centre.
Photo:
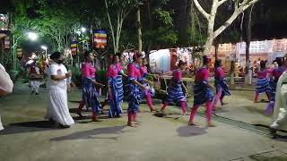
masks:
[(177, 129), (179, 137), (194, 137), (207, 133), (207, 128), (198, 126), (181, 126)]

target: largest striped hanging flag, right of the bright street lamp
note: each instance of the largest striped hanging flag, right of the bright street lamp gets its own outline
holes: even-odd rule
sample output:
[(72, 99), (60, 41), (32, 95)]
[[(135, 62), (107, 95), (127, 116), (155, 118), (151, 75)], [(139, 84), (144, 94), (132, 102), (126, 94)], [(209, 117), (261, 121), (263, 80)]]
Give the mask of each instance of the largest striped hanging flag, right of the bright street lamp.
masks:
[(108, 33), (106, 30), (93, 30), (93, 47), (106, 48), (107, 47)]

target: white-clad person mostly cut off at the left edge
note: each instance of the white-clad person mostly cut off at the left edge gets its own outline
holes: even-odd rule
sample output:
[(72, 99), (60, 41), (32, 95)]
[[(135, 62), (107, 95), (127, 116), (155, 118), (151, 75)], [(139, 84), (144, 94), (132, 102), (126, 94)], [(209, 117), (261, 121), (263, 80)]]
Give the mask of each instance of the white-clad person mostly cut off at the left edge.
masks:
[[(4, 96), (8, 93), (11, 93), (13, 90), (13, 81), (10, 79), (10, 76), (5, 72), (4, 66), (0, 64), (0, 96)], [(1, 123), (0, 115), (0, 131), (4, 129)]]

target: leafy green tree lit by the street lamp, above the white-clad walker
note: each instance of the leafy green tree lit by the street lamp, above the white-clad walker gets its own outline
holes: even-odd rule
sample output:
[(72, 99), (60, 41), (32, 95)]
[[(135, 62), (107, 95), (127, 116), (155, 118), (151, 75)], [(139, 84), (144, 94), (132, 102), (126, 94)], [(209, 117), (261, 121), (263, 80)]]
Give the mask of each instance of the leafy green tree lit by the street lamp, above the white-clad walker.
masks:
[[(59, 7), (60, 6), (60, 7)], [(65, 4), (48, 4), (43, 2), (37, 11), (39, 16), (31, 24), (44, 36), (50, 37), (56, 43), (57, 50), (70, 47), (73, 26), (79, 23), (75, 14)]]

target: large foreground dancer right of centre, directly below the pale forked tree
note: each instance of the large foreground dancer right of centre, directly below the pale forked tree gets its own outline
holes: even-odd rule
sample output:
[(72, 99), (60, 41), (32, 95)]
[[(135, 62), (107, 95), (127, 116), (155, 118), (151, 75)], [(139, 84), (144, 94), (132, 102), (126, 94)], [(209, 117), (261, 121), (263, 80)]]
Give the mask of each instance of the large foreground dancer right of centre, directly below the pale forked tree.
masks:
[(196, 116), (196, 111), (199, 106), (205, 104), (206, 110), (206, 119), (207, 125), (209, 127), (214, 127), (215, 125), (212, 123), (212, 114), (213, 114), (213, 91), (214, 87), (208, 82), (209, 71), (208, 64), (210, 63), (210, 59), (204, 55), (203, 57), (204, 65), (202, 68), (196, 71), (196, 80), (194, 86), (194, 106), (191, 110), (189, 117), (189, 125), (196, 125), (194, 123), (194, 118)]

